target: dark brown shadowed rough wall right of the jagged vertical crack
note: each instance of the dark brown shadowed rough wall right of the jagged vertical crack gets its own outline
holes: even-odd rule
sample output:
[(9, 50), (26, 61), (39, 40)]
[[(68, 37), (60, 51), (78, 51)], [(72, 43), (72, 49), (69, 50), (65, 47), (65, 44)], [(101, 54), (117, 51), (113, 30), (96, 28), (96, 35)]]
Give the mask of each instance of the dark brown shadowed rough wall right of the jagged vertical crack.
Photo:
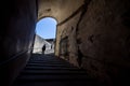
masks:
[(81, 67), (102, 81), (130, 77), (130, 1), (91, 0), (78, 26)]

